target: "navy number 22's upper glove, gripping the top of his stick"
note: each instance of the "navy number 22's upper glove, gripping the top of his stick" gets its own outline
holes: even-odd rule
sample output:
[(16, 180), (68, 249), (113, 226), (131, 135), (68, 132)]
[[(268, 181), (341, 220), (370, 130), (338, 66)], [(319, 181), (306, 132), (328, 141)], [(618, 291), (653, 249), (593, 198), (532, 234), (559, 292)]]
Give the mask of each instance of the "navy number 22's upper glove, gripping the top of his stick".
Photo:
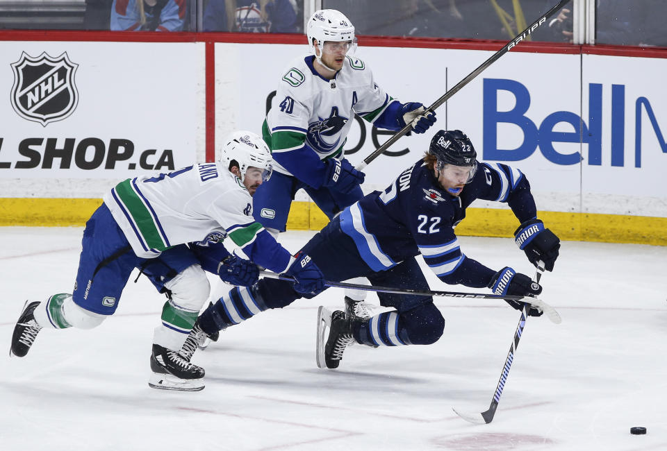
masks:
[(547, 271), (554, 270), (561, 240), (554, 232), (545, 229), (542, 221), (531, 219), (522, 223), (514, 232), (514, 242), (526, 253), (532, 264), (538, 266), (542, 260)]

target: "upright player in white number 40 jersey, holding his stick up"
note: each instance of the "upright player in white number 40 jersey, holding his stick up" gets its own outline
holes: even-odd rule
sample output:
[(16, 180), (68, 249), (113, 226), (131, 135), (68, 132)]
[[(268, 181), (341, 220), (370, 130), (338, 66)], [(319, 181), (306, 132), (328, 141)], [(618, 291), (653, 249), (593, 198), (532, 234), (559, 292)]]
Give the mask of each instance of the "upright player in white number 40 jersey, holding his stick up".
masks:
[[(421, 103), (400, 103), (373, 78), (356, 47), (352, 22), (337, 10), (318, 10), (306, 25), (313, 54), (295, 58), (281, 74), (263, 124), (274, 176), (257, 191), (254, 215), (272, 232), (284, 232), (295, 193), (304, 189), (329, 219), (363, 196), (364, 173), (343, 155), (354, 114), (377, 128), (412, 124), (424, 133), (436, 121)], [(349, 313), (365, 316), (363, 291), (346, 291)]]

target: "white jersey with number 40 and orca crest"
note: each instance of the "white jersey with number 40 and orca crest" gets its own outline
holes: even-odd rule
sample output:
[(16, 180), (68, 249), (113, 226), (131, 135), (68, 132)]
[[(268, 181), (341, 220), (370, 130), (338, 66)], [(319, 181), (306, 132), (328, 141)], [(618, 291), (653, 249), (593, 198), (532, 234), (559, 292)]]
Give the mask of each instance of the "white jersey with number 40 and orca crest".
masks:
[[(372, 72), (359, 58), (347, 56), (332, 80), (313, 69), (313, 58), (296, 58), (281, 76), (263, 130), (265, 137), (270, 134), (274, 157), (302, 148), (304, 142), (320, 160), (337, 157), (354, 113), (372, 123), (394, 100), (374, 83)], [(275, 160), (274, 169), (292, 175)]]

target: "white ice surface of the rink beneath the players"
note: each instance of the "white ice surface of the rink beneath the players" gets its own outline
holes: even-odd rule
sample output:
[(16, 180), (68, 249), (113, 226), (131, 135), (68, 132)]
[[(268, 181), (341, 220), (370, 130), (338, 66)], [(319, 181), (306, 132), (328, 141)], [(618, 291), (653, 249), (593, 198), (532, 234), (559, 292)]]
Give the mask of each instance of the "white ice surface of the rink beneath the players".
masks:
[[(518, 321), (491, 300), (436, 299), (434, 345), (353, 346), (326, 371), (315, 316), (342, 305), (330, 289), (222, 332), (194, 358), (206, 389), (176, 393), (147, 385), (164, 298), (142, 277), (97, 329), (43, 330), (8, 357), (24, 300), (71, 292), (81, 232), (0, 228), (0, 450), (667, 450), (667, 248), (564, 242), (542, 279), (563, 323), (529, 318), (493, 423), (471, 425), (452, 407), (488, 408)], [(281, 239), (297, 250), (311, 235)], [(509, 239), (460, 241), (531, 271)]]

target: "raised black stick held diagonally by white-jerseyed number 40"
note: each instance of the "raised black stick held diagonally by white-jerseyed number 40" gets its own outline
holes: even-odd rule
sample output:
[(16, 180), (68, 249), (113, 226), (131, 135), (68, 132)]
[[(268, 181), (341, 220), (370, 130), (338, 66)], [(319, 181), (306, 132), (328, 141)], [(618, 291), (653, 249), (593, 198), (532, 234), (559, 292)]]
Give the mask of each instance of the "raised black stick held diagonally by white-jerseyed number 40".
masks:
[[(491, 66), (501, 56), (503, 56), (505, 53), (507, 53), (508, 51), (513, 49), (514, 46), (516, 46), (517, 44), (522, 42), (522, 40), (525, 40), (527, 37), (529, 37), (529, 35), (531, 35), (531, 33), (533, 33), (536, 30), (536, 28), (538, 28), (538, 26), (541, 26), (542, 24), (547, 22), (547, 19), (549, 17), (554, 15), (555, 12), (557, 12), (559, 9), (563, 8), (563, 6), (566, 6), (566, 4), (569, 3), (569, 1), (570, 0), (560, 0), (558, 2), (558, 4), (556, 6), (554, 6), (553, 8), (551, 8), (550, 10), (548, 10), (545, 15), (543, 15), (542, 17), (537, 19), (535, 22), (530, 24), (524, 31), (522, 31), (521, 33), (516, 35), (516, 37), (514, 37), (513, 40), (511, 40), (510, 42), (505, 44), (505, 46), (502, 49), (493, 53), (493, 55), (491, 55), (488, 58), (488, 60), (481, 63), (481, 65), (479, 67), (477, 67), (477, 69), (470, 72), (470, 74), (468, 74), (468, 76), (466, 76), (466, 78), (463, 78), (463, 80), (459, 81), (459, 83), (457, 83), (454, 87), (452, 87), (451, 90), (445, 92), (445, 94), (443, 94), (443, 96), (441, 96), (440, 99), (436, 100), (433, 103), (433, 105), (429, 106), (429, 108), (427, 108), (422, 114), (426, 114), (427, 112), (435, 111), (436, 108), (438, 108), (440, 105), (445, 103), (448, 99), (450, 99), (450, 97), (452, 97), (454, 94), (456, 94), (456, 92), (459, 92), (459, 90), (461, 90), (462, 87), (464, 87), (468, 83), (470, 83), (470, 81), (473, 78), (477, 77), (481, 73), (481, 71), (484, 71), (484, 69)], [(379, 146), (376, 151), (374, 151), (373, 153), (368, 155), (368, 157), (364, 158), (364, 160), (361, 163), (359, 163), (359, 165), (356, 167), (356, 170), (361, 171), (363, 168), (367, 167), (370, 162), (372, 162), (377, 157), (379, 157), (379, 155), (384, 153), (384, 151), (386, 151), (387, 148), (389, 148), (389, 146), (391, 146), (392, 144), (397, 142), (398, 139), (400, 139), (400, 137), (402, 137), (403, 135), (408, 133), (411, 130), (411, 128), (412, 128), (412, 124), (406, 124), (406, 126), (404, 126), (399, 131), (397, 131), (397, 133), (395, 135), (390, 137), (386, 143)]]

